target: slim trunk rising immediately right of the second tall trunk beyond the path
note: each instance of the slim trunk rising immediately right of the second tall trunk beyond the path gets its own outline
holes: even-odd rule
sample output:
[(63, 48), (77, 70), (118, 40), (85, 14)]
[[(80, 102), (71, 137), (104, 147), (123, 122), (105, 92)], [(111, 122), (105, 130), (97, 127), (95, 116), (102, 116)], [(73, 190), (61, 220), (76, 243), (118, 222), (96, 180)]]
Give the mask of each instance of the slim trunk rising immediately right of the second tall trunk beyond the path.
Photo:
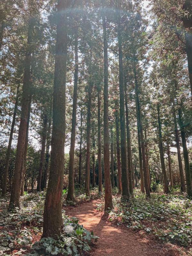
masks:
[(124, 79), (124, 92), (125, 92), (125, 116), (126, 116), (126, 132), (127, 132), (127, 156), (128, 156), (127, 160), (128, 160), (128, 172), (129, 172), (129, 191), (130, 191), (130, 194), (132, 195), (133, 194), (132, 153), (131, 153), (131, 136), (130, 136), (130, 130), (129, 130), (129, 112), (128, 112), (126, 78)]

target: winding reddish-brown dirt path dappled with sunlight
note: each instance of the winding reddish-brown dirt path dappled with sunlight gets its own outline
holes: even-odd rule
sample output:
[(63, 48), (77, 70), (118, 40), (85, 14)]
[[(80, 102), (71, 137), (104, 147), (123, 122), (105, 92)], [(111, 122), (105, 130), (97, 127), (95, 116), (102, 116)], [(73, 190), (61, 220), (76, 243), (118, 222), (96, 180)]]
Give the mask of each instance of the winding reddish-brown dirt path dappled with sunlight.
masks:
[(156, 241), (149, 240), (148, 236), (140, 235), (126, 227), (119, 227), (102, 220), (94, 215), (96, 204), (101, 199), (77, 205), (65, 207), (64, 210), (70, 216), (79, 219), (80, 224), (94, 235), (99, 236), (92, 256), (179, 256), (177, 250), (171, 246), (164, 246)]

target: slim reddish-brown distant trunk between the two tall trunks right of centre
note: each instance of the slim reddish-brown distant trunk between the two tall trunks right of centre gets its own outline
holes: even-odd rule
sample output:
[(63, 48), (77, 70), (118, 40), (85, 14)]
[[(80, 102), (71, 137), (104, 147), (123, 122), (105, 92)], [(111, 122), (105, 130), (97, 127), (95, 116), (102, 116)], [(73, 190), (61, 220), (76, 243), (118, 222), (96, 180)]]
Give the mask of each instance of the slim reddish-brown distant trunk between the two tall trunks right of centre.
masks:
[(119, 114), (117, 109), (119, 108), (116, 100), (116, 112), (115, 112), (115, 123), (116, 123), (116, 151), (117, 151), (117, 171), (118, 171), (118, 192), (122, 193), (121, 183), (121, 162), (120, 162), (120, 146), (119, 146)]

